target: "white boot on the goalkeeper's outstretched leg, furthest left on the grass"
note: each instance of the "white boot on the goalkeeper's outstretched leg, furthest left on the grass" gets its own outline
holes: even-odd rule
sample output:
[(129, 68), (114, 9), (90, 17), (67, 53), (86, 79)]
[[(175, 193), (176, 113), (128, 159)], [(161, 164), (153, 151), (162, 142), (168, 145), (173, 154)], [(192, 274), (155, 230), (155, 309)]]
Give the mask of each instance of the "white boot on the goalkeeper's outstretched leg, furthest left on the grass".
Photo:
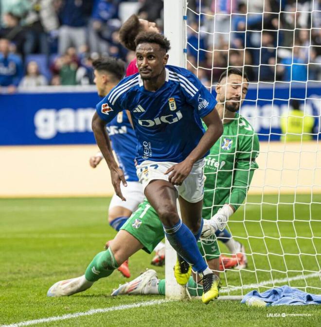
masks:
[(56, 282), (47, 292), (47, 296), (68, 296), (89, 289), (94, 282), (90, 282), (85, 275), (80, 277), (60, 280)]

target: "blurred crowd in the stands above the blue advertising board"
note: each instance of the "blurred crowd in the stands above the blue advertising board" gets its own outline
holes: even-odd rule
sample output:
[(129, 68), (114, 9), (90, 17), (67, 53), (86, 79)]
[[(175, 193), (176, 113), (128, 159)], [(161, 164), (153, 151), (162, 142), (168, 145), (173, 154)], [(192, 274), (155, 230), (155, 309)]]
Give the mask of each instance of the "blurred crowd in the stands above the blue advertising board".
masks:
[[(188, 68), (206, 86), (228, 65), (250, 81), (321, 79), (321, 0), (188, 2)], [(91, 85), (101, 55), (128, 63), (119, 28), (136, 13), (162, 31), (163, 0), (0, 0), (0, 12), (0, 86), (13, 93)]]

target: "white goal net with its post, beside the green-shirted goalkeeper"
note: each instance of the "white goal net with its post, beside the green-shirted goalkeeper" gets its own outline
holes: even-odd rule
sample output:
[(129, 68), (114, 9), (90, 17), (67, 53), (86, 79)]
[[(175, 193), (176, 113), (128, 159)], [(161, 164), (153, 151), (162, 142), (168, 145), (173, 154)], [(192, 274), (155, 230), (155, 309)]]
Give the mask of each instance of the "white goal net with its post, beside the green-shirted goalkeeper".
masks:
[[(249, 90), (239, 114), (260, 142), (259, 168), (228, 223), (233, 239), (244, 245), (248, 265), (220, 272), (220, 294), (239, 296), (282, 285), (320, 294), (320, 1), (188, 2), (164, 1), (170, 63), (193, 71), (214, 96), (223, 71), (246, 72)], [(242, 133), (240, 128), (238, 138)], [(216, 181), (224, 170), (220, 154), (208, 172)], [(219, 187), (232, 191), (233, 182), (211, 191)], [(216, 212), (214, 200), (208, 209)], [(221, 254), (233, 258), (225, 244), (218, 241)], [(175, 258), (166, 260), (166, 293), (175, 297)]]

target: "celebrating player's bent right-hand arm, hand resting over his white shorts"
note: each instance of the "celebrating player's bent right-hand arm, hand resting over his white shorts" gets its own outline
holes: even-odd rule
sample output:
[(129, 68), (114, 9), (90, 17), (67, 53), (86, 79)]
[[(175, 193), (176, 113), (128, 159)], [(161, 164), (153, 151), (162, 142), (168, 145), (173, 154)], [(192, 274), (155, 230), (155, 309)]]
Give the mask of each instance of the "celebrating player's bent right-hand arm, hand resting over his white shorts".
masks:
[(207, 126), (207, 131), (200, 139), (196, 148), (182, 162), (173, 165), (165, 172), (170, 173), (168, 180), (173, 185), (181, 185), (184, 179), (191, 172), (195, 162), (202, 158), (208, 150), (214, 145), (223, 133), (223, 124), (214, 108), (207, 116), (202, 118)]

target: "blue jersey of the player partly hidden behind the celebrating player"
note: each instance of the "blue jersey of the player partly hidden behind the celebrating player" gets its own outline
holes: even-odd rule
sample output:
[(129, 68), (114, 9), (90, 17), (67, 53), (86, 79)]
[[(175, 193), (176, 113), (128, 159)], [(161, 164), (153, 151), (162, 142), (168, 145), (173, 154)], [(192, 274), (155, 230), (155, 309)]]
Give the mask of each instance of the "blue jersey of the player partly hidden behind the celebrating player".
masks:
[(137, 138), (130, 125), (125, 110), (119, 112), (107, 125), (111, 147), (114, 150), (120, 168), (124, 171), (128, 182), (137, 182), (135, 167)]

